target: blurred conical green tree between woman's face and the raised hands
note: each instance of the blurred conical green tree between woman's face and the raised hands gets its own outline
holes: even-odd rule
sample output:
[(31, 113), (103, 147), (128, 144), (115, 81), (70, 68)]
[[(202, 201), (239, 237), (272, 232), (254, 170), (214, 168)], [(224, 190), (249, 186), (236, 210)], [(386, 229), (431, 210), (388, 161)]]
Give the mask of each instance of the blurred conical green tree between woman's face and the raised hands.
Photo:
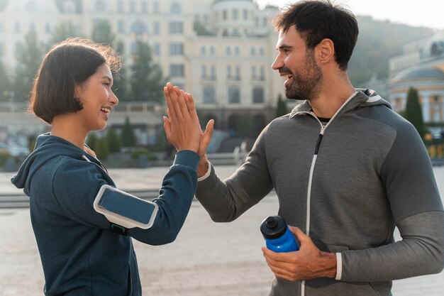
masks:
[(163, 87), (167, 80), (162, 77), (160, 67), (152, 62), (150, 45), (140, 40), (133, 53), (129, 82), (133, 101), (163, 102)]

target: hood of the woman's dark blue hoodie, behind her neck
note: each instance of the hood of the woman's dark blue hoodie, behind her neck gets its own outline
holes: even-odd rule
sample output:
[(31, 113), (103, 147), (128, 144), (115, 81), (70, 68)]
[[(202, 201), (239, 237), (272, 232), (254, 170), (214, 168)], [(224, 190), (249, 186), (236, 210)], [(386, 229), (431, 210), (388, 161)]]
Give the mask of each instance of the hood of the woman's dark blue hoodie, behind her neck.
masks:
[(23, 189), (23, 192), (29, 196), (30, 180), (32, 180), (34, 173), (50, 160), (59, 156), (79, 160), (87, 157), (89, 161), (100, 165), (99, 160), (88, 155), (74, 144), (57, 136), (51, 136), (50, 133), (44, 133), (38, 136), (33, 152), (22, 163), (17, 174), (12, 177), (12, 184)]

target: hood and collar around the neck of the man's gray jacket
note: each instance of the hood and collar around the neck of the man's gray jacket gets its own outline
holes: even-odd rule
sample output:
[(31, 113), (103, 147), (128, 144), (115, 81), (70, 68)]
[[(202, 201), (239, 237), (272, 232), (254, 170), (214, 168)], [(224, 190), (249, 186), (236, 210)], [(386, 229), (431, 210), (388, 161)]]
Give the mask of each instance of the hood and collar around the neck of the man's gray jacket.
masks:
[[(386, 100), (382, 99), (379, 94), (377, 94), (373, 89), (356, 89), (355, 94), (353, 94), (350, 99), (348, 99), (343, 106), (340, 107), (337, 113), (344, 113), (349, 110), (356, 108), (367, 107), (367, 106), (377, 106), (384, 105), (387, 108), (392, 109), (392, 106)], [(304, 101), (292, 109), (290, 113), (290, 119), (292, 119), (297, 114), (311, 112), (311, 105), (309, 101)], [(336, 114), (335, 114), (336, 115)]]

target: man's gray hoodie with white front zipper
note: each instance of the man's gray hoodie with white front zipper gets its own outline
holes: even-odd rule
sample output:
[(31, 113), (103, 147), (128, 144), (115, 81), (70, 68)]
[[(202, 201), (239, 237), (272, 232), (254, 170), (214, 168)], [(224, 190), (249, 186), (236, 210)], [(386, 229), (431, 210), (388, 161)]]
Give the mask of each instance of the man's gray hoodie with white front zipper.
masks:
[(274, 278), (272, 296), (392, 295), (392, 280), (443, 270), (430, 158), (414, 126), (374, 91), (358, 90), (324, 127), (308, 102), (296, 106), (262, 131), (231, 177), (218, 179), (211, 166), (196, 197), (213, 221), (227, 222), (273, 188), (279, 215), (337, 253), (338, 269), (336, 279)]

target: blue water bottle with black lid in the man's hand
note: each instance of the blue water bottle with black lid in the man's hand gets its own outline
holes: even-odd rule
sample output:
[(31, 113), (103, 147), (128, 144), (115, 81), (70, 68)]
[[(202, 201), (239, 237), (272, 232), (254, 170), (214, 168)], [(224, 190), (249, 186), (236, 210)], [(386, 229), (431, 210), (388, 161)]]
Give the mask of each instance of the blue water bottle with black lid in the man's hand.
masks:
[(282, 253), (299, 250), (294, 235), (282, 216), (268, 216), (260, 224), (260, 232), (264, 236), (267, 248), (274, 252)]

